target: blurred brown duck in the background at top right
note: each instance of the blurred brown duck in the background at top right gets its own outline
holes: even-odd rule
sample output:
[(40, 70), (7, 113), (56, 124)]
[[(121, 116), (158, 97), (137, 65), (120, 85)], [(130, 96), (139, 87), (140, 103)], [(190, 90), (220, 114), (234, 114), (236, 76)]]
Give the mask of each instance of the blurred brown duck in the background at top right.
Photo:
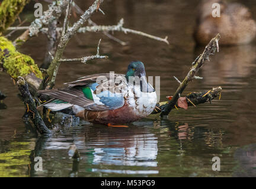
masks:
[[(212, 16), (214, 3), (220, 5), (220, 17)], [(254, 40), (256, 22), (246, 6), (223, 0), (204, 0), (199, 7), (194, 30), (197, 44), (208, 44), (218, 33), (222, 36), (220, 45), (248, 44)]]

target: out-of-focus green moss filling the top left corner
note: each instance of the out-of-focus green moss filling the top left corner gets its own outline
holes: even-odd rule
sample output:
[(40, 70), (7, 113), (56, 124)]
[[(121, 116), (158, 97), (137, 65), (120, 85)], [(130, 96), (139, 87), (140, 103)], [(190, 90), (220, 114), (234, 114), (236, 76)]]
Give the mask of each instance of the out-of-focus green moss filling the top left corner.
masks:
[(4, 0), (0, 6), (0, 32), (6, 30), (30, 0)]

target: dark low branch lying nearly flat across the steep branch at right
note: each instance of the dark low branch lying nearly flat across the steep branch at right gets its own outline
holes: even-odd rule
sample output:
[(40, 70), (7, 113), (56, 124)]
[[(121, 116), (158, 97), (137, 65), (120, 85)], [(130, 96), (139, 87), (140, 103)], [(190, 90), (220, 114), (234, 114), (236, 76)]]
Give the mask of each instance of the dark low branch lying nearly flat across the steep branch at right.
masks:
[[(199, 105), (201, 103), (206, 103), (206, 102), (212, 103), (212, 100), (215, 97), (217, 97), (218, 95), (220, 96), (221, 92), (222, 92), (222, 87), (216, 87), (207, 92), (188, 93), (185, 96), (185, 100), (186, 100), (188, 106), (196, 106), (196, 105)], [(162, 110), (164, 110), (165, 107), (168, 105), (168, 103), (169, 103), (168, 101), (157, 103), (152, 114), (161, 113)], [(179, 108), (178, 102), (174, 105), (174, 107), (177, 109)]]

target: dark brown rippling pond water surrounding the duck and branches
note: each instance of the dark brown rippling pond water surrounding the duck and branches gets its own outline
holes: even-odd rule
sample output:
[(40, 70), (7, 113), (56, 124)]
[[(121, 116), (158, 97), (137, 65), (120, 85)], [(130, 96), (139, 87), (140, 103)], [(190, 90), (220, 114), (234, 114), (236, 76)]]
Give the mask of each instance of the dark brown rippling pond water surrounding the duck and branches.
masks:
[[(82, 9), (91, 1), (76, 1)], [(78, 34), (71, 40), (65, 57), (95, 53), (102, 38), (101, 54), (108, 60), (89, 64), (63, 63), (56, 87), (93, 73), (124, 73), (132, 60), (145, 63), (148, 76), (161, 76), (161, 101), (177, 88), (173, 76), (183, 79), (191, 62), (204, 47), (195, 47), (192, 37), (199, 1), (105, 1), (105, 15), (95, 14), (98, 24), (116, 24), (165, 37), (170, 45), (145, 37), (116, 32), (129, 45), (121, 46), (102, 34)], [(255, 1), (244, 2), (256, 18)], [(46, 9), (46, 6), (44, 6)], [(21, 18), (33, 19), (33, 4)], [(18, 35), (19, 33), (17, 32)], [(15, 37), (12, 36), (12, 38)], [(46, 37), (28, 41), (20, 51), (37, 63), (43, 62)], [(52, 138), (36, 136), (21, 117), (24, 105), (17, 86), (0, 72), (0, 90), (8, 95), (7, 109), (0, 109), (0, 177), (236, 177), (256, 176), (256, 43), (221, 47), (200, 70), (185, 93), (222, 86), (222, 98), (188, 110), (172, 110), (168, 119), (151, 115), (129, 128), (79, 125)], [(81, 161), (68, 157), (76, 144)], [(33, 171), (33, 158), (43, 158), (43, 171)], [(212, 158), (220, 158), (220, 171), (212, 170)]]

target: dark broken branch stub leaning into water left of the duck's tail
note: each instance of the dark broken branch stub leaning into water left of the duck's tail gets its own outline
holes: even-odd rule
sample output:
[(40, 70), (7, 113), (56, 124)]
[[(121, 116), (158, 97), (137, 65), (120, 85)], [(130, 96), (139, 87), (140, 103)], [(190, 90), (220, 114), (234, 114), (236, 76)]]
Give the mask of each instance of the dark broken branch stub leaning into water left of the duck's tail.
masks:
[(34, 99), (32, 98), (28, 90), (28, 84), (25, 82), (24, 78), (19, 76), (17, 84), (25, 105), (25, 113), (29, 116), (31, 121), (34, 123), (34, 125), (37, 128), (37, 131), (41, 134), (52, 133), (52, 131), (50, 131), (47, 128), (47, 126), (44, 124), (43, 119), (41, 118), (39, 112), (37, 111), (36, 103), (34, 102)]

